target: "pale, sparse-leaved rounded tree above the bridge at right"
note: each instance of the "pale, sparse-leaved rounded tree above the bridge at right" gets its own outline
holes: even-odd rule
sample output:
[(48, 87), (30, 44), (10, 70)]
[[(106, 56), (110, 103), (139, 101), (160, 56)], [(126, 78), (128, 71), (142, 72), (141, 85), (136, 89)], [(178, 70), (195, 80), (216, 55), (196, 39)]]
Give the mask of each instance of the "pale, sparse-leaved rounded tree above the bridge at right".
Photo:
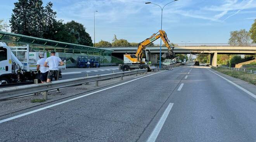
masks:
[(251, 35), (245, 29), (230, 32), (228, 44), (231, 46), (248, 46), (251, 43)]

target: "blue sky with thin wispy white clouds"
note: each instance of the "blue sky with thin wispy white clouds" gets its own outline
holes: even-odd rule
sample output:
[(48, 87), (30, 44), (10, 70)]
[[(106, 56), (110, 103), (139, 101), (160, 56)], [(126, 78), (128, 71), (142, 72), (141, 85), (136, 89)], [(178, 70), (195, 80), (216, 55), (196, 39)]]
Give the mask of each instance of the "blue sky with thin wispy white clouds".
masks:
[[(13, 3), (1, 0), (0, 19), (11, 17)], [(95, 41), (118, 39), (141, 42), (161, 27), (161, 9), (171, 0), (43, 0), (51, 1), (57, 19), (75, 20), (86, 27), (93, 39), (93, 12), (96, 13)], [(256, 19), (256, 0), (178, 0), (163, 10), (163, 30), (171, 42), (227, 43), (230, 31), (249, 30)], [(159, 44), (159, 40), (155, 43)]]

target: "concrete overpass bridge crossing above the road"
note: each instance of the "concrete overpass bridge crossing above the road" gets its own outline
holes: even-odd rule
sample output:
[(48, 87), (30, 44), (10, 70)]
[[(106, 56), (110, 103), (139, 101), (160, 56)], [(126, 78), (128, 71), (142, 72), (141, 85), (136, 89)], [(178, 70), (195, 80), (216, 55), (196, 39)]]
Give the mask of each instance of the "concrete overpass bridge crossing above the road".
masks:
[[(137, 47), (111, 47), (113, 56), (123, 58), (123, 54), (135, 53)], [(146, 51), (150, 51), (150, 60), (152, 63), (157, 62), (160, 53), (160, 47), (146, 47)], [(167, 52), (166, 47), (162, 47), (162, 53)], [(210, 64), (217, 66), (218, 54), (256, 54), (256, 46), (178, 46), (174, 48), (176, 54), (211, 54)]]

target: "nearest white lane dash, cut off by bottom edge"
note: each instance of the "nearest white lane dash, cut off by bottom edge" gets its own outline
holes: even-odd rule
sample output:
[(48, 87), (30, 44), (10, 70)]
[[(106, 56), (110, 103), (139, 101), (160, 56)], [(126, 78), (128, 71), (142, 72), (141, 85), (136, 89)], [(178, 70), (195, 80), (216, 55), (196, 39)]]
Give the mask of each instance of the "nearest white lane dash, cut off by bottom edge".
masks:
[(154, 128), (154, 130), (150, 134), (149, 138), (147, 139), (147, 142), (155, 142), (156, 141), (156, 138), (157, 138), (159, 132), (161, 131), (161, 129), (164, 125), (164, 122), (165, 122), (166, 118), (168, 117), (172, 107), (173, 107), (173, 103), (169, 103), (169, 105), (165, 109), (162, 117), (158, 121), (156, 127)]

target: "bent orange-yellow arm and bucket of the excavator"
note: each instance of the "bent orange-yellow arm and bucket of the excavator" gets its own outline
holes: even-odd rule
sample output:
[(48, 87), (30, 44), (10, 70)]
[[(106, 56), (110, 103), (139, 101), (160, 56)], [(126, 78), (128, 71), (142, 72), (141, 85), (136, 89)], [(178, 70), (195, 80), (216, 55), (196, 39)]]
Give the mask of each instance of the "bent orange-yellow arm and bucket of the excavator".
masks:
[[(157, 32), (158, 33), (158, 32)], [(165, 46), (169, 49), (168, 51), (168, 55), (167, 56), (173, 56), (173, 46), (170, 44), (169, 39), (167, 38), (167, 34), (166, 32), (164, 32), (164, 30), (159, 30), (159, 34), (153, 34), (151, 35), (149, 38), (145, 39), (144, 41), (140, 42), (140, 44), (138, 45), (138, 49), (136, 51), (136, 56), (138, 57), (138, 61), (141, 61), (143, 55), (144, 55), (144, 50), (146, 48), (147, 45), (149, 45), (150, 43), (156, 41), (157, 39), (161, 38), (165, 44)]]

